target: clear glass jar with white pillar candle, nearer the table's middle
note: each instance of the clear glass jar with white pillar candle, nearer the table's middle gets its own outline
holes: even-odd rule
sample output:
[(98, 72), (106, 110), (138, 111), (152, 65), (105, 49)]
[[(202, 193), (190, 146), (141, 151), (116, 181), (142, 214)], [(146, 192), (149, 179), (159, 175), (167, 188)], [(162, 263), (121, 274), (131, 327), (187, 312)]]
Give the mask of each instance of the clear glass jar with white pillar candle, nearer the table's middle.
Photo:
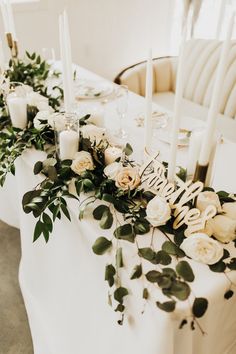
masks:
[(73, 160), (79, 150), (79, 126), (75, 113), (58, 113), (53, 117), (60, 160)]

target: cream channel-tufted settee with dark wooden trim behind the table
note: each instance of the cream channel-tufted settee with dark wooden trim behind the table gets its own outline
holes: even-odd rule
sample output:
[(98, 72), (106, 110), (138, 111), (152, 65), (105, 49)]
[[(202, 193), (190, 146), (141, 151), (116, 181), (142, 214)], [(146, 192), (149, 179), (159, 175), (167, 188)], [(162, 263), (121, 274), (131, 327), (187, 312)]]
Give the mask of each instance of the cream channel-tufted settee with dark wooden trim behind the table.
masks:
[[(193, 39), (186, 45), (183, 115), (206, 120), (222, 42)], [(177, 57), (153, 61), (153, 101), (172, 111), (174, 105)], [(131, 91), (145, 95), (146, 63), (123, 70), (115, 79)], [(232, 41), (225, 79), (222, 82), (218, 130), (236, 141), (236, 41)]]

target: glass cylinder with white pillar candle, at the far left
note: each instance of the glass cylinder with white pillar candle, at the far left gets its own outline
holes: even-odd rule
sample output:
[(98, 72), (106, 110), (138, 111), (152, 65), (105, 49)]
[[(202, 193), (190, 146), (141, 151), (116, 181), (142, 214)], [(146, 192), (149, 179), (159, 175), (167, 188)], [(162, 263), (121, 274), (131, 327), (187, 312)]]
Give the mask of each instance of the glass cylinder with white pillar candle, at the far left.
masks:
[(7, 91), (5, 96), (12, 126), (25, 129), (28, 121), (26, 87), (20, 82), (10, 82)]

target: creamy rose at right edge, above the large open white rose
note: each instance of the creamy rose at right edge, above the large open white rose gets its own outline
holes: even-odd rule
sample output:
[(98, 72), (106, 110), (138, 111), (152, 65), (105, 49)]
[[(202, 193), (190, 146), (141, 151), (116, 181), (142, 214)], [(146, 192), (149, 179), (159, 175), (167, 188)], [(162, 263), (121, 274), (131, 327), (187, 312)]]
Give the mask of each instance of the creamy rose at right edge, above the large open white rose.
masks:
[(236, 220), (225, 215), (216, 215), (207, 221), (213, 230), (213, 236), (220, 242), (228, 243), (236, 238)]

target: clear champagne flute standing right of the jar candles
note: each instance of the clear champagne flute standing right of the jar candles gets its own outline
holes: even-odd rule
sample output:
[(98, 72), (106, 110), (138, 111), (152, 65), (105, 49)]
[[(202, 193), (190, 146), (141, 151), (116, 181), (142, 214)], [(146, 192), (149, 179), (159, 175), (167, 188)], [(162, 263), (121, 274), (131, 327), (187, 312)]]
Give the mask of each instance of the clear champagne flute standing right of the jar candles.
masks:
[(127, 138), (128, 136), (124, 129), (124, 120), (128, 109), (128, 93), (128, 87), (126, 85), (120, 85), (116, 99), (116, 111), (119, 116), (119, 129), (115, 134), (115, 136), (120, 139)]

